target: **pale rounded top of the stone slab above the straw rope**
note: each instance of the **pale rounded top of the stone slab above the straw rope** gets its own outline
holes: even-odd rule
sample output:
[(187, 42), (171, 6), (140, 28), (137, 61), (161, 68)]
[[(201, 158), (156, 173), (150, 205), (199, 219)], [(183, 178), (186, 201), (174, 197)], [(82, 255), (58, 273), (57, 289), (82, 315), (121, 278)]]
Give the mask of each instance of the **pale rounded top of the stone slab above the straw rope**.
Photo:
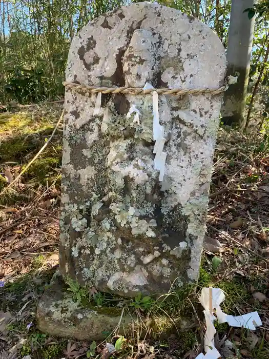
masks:
[(66, 81), (217, 89), (225, 66), (224, 47), (206, 24), (143, 2), (107, 12), (82, 28), (71, 44)]

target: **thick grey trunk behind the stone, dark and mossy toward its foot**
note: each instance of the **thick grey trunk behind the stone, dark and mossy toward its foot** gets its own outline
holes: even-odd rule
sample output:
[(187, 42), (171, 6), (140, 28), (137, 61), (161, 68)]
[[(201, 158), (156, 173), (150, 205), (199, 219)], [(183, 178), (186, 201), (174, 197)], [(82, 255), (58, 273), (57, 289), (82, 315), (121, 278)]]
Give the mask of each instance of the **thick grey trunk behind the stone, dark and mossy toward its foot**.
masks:
[(227, 45), (227, 76), (238, 76), (237, 83), (225, 92), (221, 109), (225, 125), (244, 125), (244, 111), (249, 84), (255, 17), (243, 12), (253, 7), (254, 0), (233, 0)]

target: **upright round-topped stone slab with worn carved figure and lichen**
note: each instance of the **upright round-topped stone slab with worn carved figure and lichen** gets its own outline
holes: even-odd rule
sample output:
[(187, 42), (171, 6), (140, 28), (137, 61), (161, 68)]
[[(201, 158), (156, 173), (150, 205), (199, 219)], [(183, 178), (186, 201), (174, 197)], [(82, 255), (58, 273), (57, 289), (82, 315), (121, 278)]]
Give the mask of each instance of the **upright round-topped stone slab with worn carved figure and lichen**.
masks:
[[(145, 2), (84, 27), (66, 81), (213, 90), (224, 73), (208, 26)], [(197, 280), (222, 94), (156, 95), (102, 94), (98, 108), (66, 91), (60, 270), (81, 285), (132, 296)]]

